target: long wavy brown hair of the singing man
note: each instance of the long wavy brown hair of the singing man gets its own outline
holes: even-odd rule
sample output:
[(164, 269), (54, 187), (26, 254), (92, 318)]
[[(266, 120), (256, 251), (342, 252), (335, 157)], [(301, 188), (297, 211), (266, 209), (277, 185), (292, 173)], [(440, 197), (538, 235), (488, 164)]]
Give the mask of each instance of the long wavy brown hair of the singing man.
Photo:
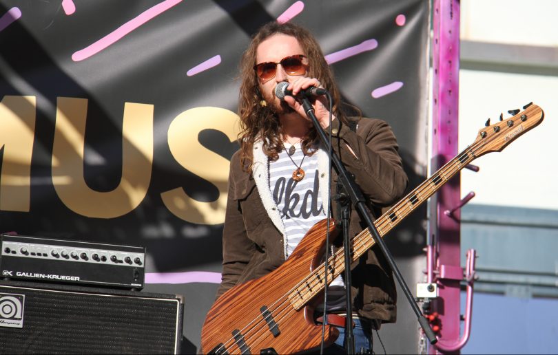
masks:
[[(264, 100), (260, 93), (260, 83), (254, 71), (256, 65), (256, 50), (262, 41), (274, 34), (286, 34), (298, 40), (304, 55), (309, 59), (307, 75), (317, 78), (333, 99), (333, 114), (336, 118), (347, 122), (346, 116), (340, 110), (340, 92), (333, 80), (333, 72), (324, 58), (316, 38), (305, 28), (294, 23), (278, 23), (273, 21), (263, 25), (252, 37), (249, 47), (242, 54), (240, 61), (240, 95), (238, 101), (238, 116), (240, 116), (240, 164), (245, 171), (251, 171), (253, 163), (252, 149), (256, 140), (262, 140), (263, 151), (271, 159), (276, 160), (283, 149), (279, 118), (269, 107), (261, 105)], [(302, 140), (302, 150), (312, 154), (311, 147), (318, 144), (316, 128), (311, 126), (309, 133)]]

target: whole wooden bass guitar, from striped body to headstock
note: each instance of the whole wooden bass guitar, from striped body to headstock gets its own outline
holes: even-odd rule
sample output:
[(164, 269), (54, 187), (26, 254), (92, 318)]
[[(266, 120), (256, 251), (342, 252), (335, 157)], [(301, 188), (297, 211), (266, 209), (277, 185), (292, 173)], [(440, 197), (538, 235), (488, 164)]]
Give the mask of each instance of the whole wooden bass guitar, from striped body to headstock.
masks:
[[(376, 219), (374, 226), (380, 236), (384, 237), (467, 164), (486, 153), (502, 151), (544, 118), (541, 108), (532, 103), (513, 114), (480, 129), (473, 144)], [(340, 248), (329, 257), (325, 275), (321, 260), (327, 228), (333, 231), (333, 222), (329, 226), (327, 220), (318, 222), (282, 266), (231, 288), (217, 299), (202, 328), (204, 354), (292, 354), (320, 347), (322, 325), (313, 321), (313, 308), (326, 286), (325, 280), (329, 283), (345, 268)], [(368, 229), (356, 235), (351, 241), (353, 261), (374, 244)], [(335, 327), (326, 325), (325, 345), (331, 345), (338, 334)]]

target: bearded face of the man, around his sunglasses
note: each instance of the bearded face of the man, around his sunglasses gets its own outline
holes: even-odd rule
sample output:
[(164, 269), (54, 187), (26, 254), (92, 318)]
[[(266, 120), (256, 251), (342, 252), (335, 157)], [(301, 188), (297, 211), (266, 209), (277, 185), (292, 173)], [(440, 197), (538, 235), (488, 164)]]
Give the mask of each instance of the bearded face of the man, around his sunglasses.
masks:
[[(286, 34), (273, 34), (273, 36), (262, 41), (256, 50), (256, 63), (279, 63), (283, 58), (289, 56), (296, 56), (304, 54), (298, 40)], [(307, 64), (307, 59), (304, 58), (304, 63)], [(304, 73), (298, 75), (291, 75), (285, 71), (281, 64), (276, 65), (276, 74), (274, 78), (267, 81), (258, 79), (260, 82), (260, 92), (267, 106), (276, 114), (288, 114), (293, 112), (293, 109), (284, 101), (279, 100), (275, 96), (275, 87), (282, 81), (291, 81), (291, 78), (296, 76), (307, 75), (307, 65), (304, 66)]]

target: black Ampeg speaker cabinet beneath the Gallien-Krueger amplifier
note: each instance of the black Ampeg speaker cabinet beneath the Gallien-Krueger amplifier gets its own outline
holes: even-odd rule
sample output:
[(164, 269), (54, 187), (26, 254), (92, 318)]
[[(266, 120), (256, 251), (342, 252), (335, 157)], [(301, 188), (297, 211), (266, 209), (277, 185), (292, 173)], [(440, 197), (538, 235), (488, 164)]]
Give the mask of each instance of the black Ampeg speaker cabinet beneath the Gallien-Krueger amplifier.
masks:
[(179, 354), (177, 295), (0, 281), (0, 354)]

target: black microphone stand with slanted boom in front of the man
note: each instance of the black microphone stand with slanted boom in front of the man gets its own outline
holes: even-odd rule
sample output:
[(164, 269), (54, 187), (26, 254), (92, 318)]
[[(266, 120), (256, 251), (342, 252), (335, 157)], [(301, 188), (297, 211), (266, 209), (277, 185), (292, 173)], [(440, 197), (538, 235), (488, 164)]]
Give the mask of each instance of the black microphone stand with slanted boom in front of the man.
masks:
[[(327, 94), (327, 96), (328, 96), (328, 100), (331, 102), (331, 96), (329, 96), (329, 93)], [(314, 109), (310, 101), (306, 96), (302, 96), (300, 100), (302, 100), (302, 107), (304, 107), (304, 111), (306, 112), (307, 116), (312, 120), (314, 127), (316, 127), (316, 131), (318, 131), (318, 135), (320, 136), (320, 139), (325, 144), (325, 146), (328, 147), (327, 144), (328, 139), (326, 133), (324, 132), (324, 129), (322, 129), (322, 126), (320, 126), (320, 122), (318, 122), (318, 118), (316, 118), (316, 115), (314, 114)], [(382, 250), (382, 253), (384, 254), (386, 260), (389, 263), (389, 266), (391, 266), (391, 269), (393, 270), (393, 274), (395, 275), (395, 279), (397, 279), (397, 282), (400, 284), (403, 293), (407, 298), (407, 301), (409, 301), (409, 305), (411, 305), (411, 308), (415, 312), (417, 316), (417, 321), (422, 327), (422, 330), (424, 331), (424, 334), (428, 338), (428, 341), (431, 344), (435, 344), (437, 342), (437, 338), (433, 330), (431, 329), (430, 325), (428, 325), (428, 320), (426, 320), (426, 317), (420, 311), (420, 308), (418, 307), (417, 303), (415, 302), (415, 299), (413, 298), (413, 294), (411, 294), (411, 291), (409, 290), (409, 286), (407, 286), (405, 280), (403, 279), (403, 276), (401, 275), (399, 268), (397, 268), (397, 264), (395, 263), (395, 260), (393, 259), (391, 252), (387, 248), (384, 239), (380, 237), (380, 233), (378, 233), (378, 230), (375, 228), (372, 218), (370, 217), (368, 211), (366, 210), (366, 204), (365, 204), (366, 200), (364, 199), (364, 195), (362, 194), (360, 187), (354, 181), (353, 176), (350, 175), (347, 169), (345, 169), (345, 166), (341, 162), (339, 157), (335, 155), (333, 149), (330, 153), (331, 153), (331, 161), (333, 162), (333, 166), (335, 166), (335, 170), (337, 170), (338, 173), (338, 179), (340, 180), (340, 182), (342, 182), (342, 185), (344, 186), (344, 190), (347, 193), (347, 196), (342, 197), (341, 202), (342, 203), (347, 202), (348, 204), (348, 201), (343, 201), (343, 200), (350, 200), (353, 206), (355, 206), (360, 217), (362, 217), (362, 219), (366, 223), (366, 226), (368, 226), (374, 238), (375, 243), (380, 247), (380, 250)], [(351, 240), (349, 236), (348, 214), (349, 214), (349, 210), (347, 208), (344, 208), (342, 211), (342, 217), (343, 217), (342, 220), (344, 221), (343, 222), (343, 232), (344, 232), (343, 245), (344, 245), (344, 261), (345, 261), (345, 276), (346, 276), (345, 286), (347, 288), (347, 295), (348, 295), (347, 322), (345, 323), (345, 330), (346, 330), (346, 338), (347, 336), (351, 337), (349, 339), (350, 341), (347, 341), (347, 354), (355, 354), (354, 351), (355, 345), (354, 345), (354, 338), (352, 332), (353, 314), (352, 314), (352, 305), (351, 305), (351, 282), (352, 282), (351, 281), (351, 248), (350, 248)], [(346, 221), (344, 220), (344, 217), (347, 217)], [(325, 310), (324, 310), (324, 316), (325, 316)]]

